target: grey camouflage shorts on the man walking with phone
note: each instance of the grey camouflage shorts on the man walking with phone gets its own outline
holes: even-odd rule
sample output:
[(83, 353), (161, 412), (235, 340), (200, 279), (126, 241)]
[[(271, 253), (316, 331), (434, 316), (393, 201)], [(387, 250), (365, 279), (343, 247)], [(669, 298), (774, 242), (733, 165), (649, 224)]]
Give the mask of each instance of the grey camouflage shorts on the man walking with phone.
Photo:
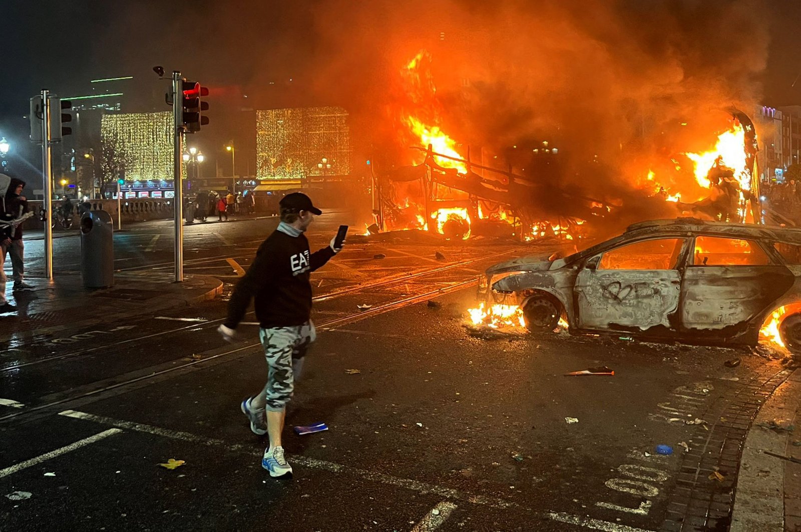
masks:
[(267, 409), (280, 412), (286, 407), (295, 379), (300, 377), (308, 346), (316, 340), (311, 320), (293, 327), (260, 328), (259, 338), (264, 346), (269, 372), (264, 392)]

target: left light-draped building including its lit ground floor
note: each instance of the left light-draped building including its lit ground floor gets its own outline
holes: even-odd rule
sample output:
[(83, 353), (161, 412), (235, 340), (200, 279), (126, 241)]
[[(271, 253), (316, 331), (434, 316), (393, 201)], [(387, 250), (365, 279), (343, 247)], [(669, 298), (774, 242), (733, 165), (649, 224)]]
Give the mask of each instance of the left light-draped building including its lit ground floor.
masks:
[(103, 115), (99, 187), (103, 195), (124, 179), (126, 197), (171, 197), (172, 113)]

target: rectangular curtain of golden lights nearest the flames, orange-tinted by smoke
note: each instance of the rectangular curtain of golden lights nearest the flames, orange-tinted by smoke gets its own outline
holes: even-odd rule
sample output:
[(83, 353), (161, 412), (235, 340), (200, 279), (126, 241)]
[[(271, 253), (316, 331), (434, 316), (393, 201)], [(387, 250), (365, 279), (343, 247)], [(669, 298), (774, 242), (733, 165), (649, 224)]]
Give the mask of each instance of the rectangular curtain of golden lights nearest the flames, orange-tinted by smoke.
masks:
[(259, 179), (348, 175), (350, 157), (348, 111), (342, 107), (256, 111)]

